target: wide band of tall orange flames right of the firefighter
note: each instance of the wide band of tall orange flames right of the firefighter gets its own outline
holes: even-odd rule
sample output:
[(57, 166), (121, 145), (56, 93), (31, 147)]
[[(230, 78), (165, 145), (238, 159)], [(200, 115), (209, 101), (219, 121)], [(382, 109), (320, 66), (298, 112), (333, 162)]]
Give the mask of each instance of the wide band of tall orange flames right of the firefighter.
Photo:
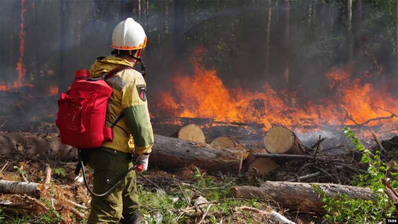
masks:
[[(387, 82), (376, 88), (369, 75), (351, 81), (351, 66), (334, 68), (324, 75), (330, 92), (324, 99), (298, 103), (295, 93), (277, 92), (267, 83), (263, 90), (250, 92), (240, 87), (228, 88), (214, 69), (203, 68), (193, 60), (192, 76), (176, 75), (175, 96), (163, 92), (156, 103), (162, 115), (208, 117), (215, 121), (255, 122), (268, 129), (285, 125), (295, 131), (308, 132), (324, 127), (338, 130), (344, 125), (395, 129), (398, 106)], [(390, 90), (390, 91), (389, 91)]]

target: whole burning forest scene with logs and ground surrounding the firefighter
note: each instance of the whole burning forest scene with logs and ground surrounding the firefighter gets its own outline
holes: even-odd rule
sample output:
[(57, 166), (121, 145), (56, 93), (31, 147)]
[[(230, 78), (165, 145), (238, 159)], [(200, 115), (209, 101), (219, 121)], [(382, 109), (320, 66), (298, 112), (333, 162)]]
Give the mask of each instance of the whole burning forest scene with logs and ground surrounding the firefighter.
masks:
[(398, 217), (397, 0), (3, 0), (0, 15), (0, 223), (87, 222), (57, 101), (128, 17), (148, 39), (145, 223)]

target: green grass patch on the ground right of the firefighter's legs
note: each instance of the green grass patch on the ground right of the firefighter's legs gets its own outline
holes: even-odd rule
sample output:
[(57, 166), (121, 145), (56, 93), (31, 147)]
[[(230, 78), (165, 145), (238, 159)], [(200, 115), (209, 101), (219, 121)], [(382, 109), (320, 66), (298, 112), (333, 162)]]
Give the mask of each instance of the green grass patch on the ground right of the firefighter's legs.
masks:
[[(192, 207), (187, 201), (191, 201), (194, 197), (201, 195), (208, 202), (212, 203), (208, 211), (209, 217), (206, 223), (219, 223), (223, 219), (223, 223), (235, 223), (232, 220), (231, 209), (242, 205), (258, 208), (259, 203), (256, 200), (239, 200), (234, 199), (230, 192), (230, 187), (234, 185), (232, 178), (224, 178), (221, 182), (205, 173), (196, 171), (193, 176), (193, 184), (173, 184), (167, 193), (162, 191), (154, 191), (138, 185), (141, 208), (140, 211), (145, 215), (148, 224), (155, 224), (155, 214), (160, 213), (163, 216), (162, 223), (176, 223), (177, 218), (185, 209)], [(180, 185), (180, 186), (179, 186)], [(180, 188), (181, 187), (181, 188)], [(178, 198), (177, 202), (173, 202), (173, 198)], [(205, 205), (203, 210), (206, 210)], [(193, 212), (191, 212), (192, 214)], [(200, 213), (199, 213), (200, 214)], [(245, 218), (247, 213), (243, 213)], [(200, 218), (199, 218), (200, 220)], [(245, 223), (251, 223), (252, 218), (247, 216)], [(195, 223), (193, 218), (182, 216), (178, 223)]]

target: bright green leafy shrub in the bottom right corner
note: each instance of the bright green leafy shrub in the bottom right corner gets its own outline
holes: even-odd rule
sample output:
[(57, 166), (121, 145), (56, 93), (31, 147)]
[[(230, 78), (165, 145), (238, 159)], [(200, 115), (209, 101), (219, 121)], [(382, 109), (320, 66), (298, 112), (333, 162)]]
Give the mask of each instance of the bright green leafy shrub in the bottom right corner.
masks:
[[(375, 195), (375, 200), (351, 199), (347, 195), (338, 194), (330, 197), (323, 192), (319, 186), (314, 185), (324, 203), (323, 209), (326, 212), (324, 218), (330, 223), (377, 223), (384, 217), (393, 217), (396, 213), (395, 206), (385, 193), (383, 179), (389, 180), (390, 176), (398, 176), (397, 163), (391, 167), (380, 158), (380, 151), (373, 154), (365, 148), (355, 133), (348, 127), (344, 128), (344, 133), (352, 139), (355, 150), (362, 153), (361, 163), (368, 166), (365, 174), (359, 175), (353, 184), (358, 187), (368, 187)], [(392, 183), (397, 188), (397, 181)]]

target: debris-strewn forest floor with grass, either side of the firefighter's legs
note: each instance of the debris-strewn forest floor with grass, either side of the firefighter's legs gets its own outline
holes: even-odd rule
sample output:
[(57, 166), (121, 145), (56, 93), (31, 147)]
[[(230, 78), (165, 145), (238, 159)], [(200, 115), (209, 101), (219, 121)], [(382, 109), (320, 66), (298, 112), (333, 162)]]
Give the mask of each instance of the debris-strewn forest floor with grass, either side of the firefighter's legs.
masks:
[[(0, 223), (55, 224), (86, 223), (90, 212), (91, 195), (81, 178), (76, 179), (76, 162), (61, 162), (25, 158), (22, 155), (1, 156), (0, 179), (44, 183), (46, 167), (52, 169), (51, 181), (40, 199), (22, 195), (0, 194)], [(92, 172), (88, 169), (91, 182)], [(258, 185), (256, 177), (207, 175), (196, 167), (174, 172), (149, 170), (137, 178), (141, 208), (148, 224), (267, 224), (277, 223), (261, 211), (277, 211), (291, 221), (320, 223), (315, 214), (301, 214), (284, 210), (277, 202), (234, 198), (230, 187)], [(248, 211), (242, 206), (258, 209)]]

